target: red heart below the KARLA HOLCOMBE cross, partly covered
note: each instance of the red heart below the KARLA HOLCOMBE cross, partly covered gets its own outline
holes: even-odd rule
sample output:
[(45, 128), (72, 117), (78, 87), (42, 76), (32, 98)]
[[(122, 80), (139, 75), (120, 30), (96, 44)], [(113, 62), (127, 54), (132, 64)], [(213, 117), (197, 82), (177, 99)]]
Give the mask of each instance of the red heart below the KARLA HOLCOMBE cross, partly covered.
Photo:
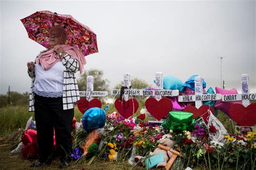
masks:
[(187, 106), (183, 112), (190, 112), (193, 113), (193, 119), (196, 119), (197, 117), (202, 117), (205, 121), (205, 124), (207, 125), (210, 112), (208, 112), (208, 109), (210, 107), (210, 111), (212, 114), (214, 113), (213, 108), (208, 105), (201, 105), (201, 107), (197, 108), (195, 106)]

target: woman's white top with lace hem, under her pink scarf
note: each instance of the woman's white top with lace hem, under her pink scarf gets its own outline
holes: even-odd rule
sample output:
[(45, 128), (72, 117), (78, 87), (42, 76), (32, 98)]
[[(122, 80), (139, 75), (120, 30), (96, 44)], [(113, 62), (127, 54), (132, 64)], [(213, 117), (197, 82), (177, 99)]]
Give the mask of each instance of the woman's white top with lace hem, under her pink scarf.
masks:
[(64, 65), (57, 62), (44, 70), (41, 64), (35, 64), (34, 92), (43, 97), (62, 97)]

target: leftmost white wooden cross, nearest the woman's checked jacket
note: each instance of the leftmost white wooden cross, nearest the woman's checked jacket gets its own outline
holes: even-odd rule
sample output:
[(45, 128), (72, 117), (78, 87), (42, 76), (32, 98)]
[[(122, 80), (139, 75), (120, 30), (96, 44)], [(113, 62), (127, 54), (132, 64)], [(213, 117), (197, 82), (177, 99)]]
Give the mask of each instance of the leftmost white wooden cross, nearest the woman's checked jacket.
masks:
[(86, 97), (90, 101), (92, 97), (105, 97), (108, 95), (107, 91), (93, 91), (93, 76), (87, 76), (86, 81), (86, 91), (79, 91), (80, 97)]

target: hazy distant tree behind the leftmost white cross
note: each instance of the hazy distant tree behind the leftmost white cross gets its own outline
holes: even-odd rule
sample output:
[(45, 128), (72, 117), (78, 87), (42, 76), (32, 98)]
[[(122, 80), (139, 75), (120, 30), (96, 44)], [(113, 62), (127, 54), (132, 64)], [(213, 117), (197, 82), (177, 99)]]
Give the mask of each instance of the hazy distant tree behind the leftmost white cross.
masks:
[(78, 88), (80, 91), (86, 91), (87, 76), (93, 76), (93, 91), (108, 91), (109, 80), (103, 79), (103, 71), (97, 69), (90, 69), (85, 71), (78, 79)]

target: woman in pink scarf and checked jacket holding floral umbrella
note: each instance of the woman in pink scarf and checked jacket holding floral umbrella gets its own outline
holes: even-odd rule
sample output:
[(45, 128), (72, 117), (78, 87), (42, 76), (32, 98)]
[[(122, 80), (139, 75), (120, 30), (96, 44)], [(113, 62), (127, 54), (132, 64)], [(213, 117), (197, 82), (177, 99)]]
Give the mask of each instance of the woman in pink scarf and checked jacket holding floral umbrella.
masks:
[(49, 32), (50, 48), (39, 53), (36, 62), (28, 62), (32, 78), (29, 111), (35, 111), (39, 160), (32, 167), (51, 164), (53, 129), (60, 159), (60, 168), (70, 165), (72, 151), (72, 119), (79, 100), (75, 73), (83, 71), (83, 54), (64, 45), (66, 32), (55, 26)]

